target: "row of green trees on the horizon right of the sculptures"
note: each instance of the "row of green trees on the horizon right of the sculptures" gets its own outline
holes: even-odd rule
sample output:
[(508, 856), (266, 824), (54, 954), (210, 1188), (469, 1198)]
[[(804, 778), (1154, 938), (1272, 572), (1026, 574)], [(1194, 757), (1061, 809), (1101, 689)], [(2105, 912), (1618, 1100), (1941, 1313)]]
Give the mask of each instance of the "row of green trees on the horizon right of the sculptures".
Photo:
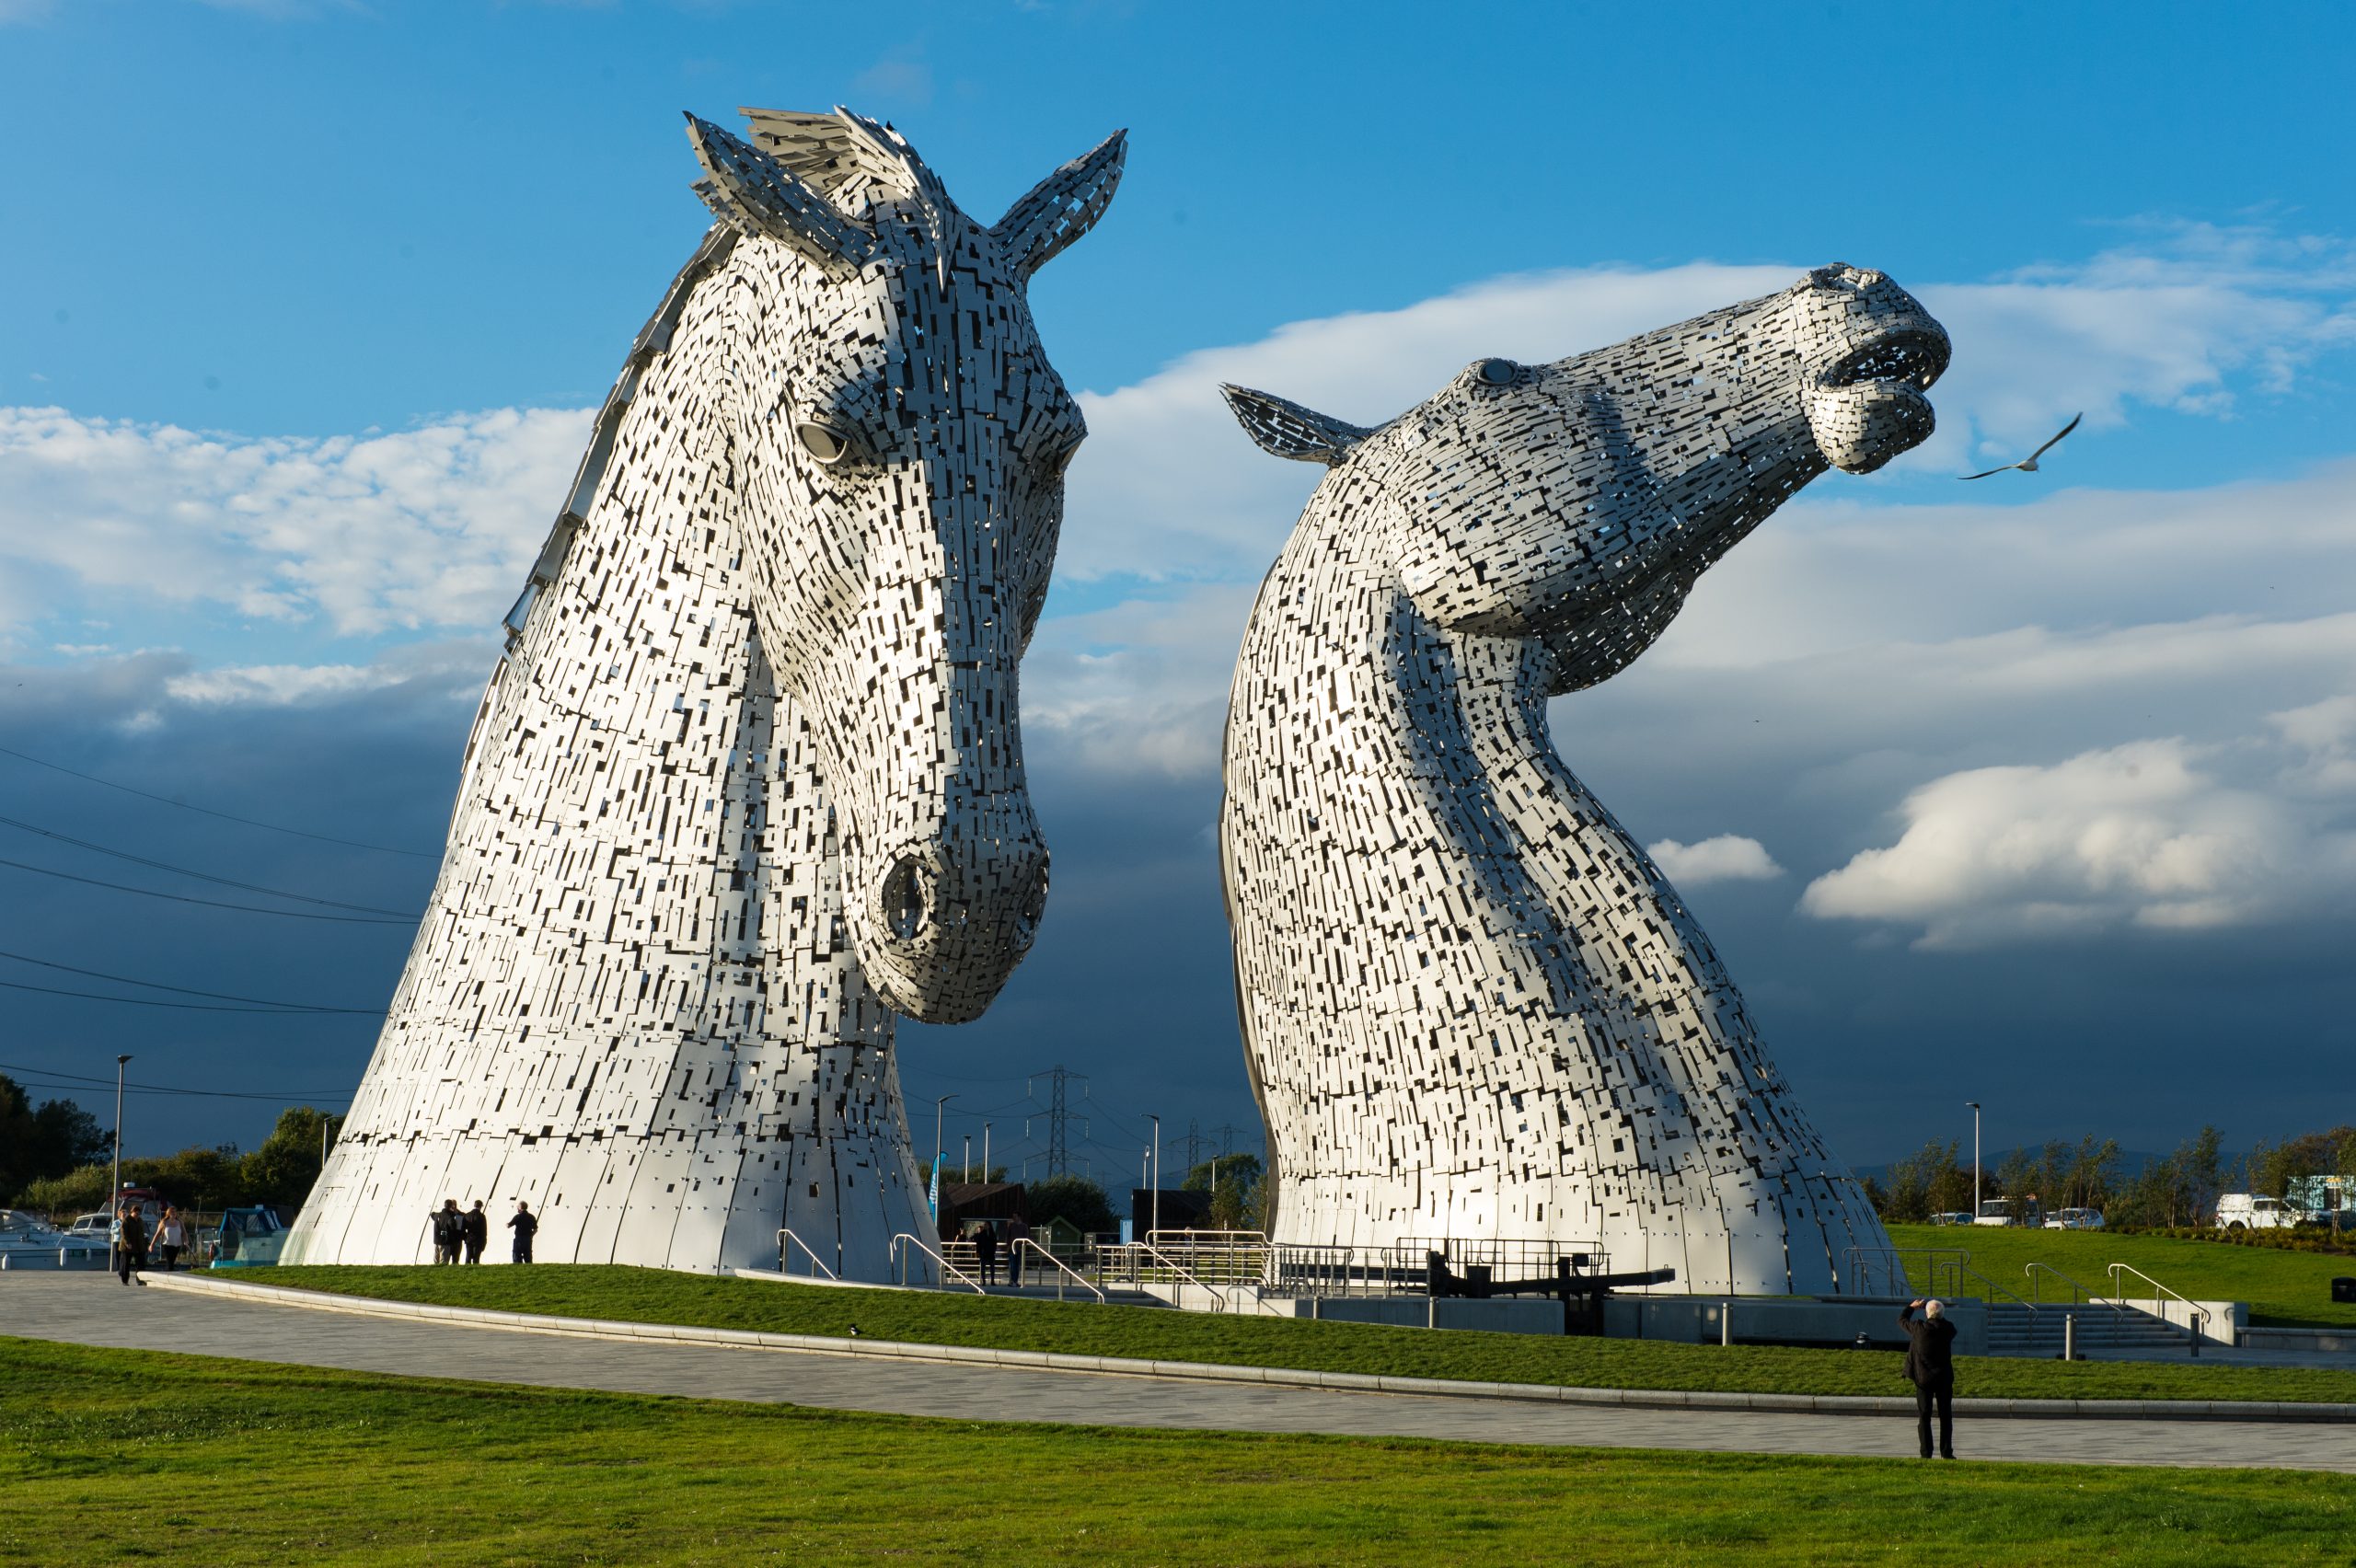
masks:
[[(2057, 1208), (2099, 1208), (2111, 1227), (2201, 1227), (2217, 1217), (2217, 1194), (2248, 1191), (2288, 1196), (2292, 1182), (2314, 1175), (2356, 1177), (2356, 1128), (2302, 1132), (2278, 1144), (2259, 1144), (2229, 1161), (2217, 1128), (2177, 1144), (2170, 1154), (2127, 1170), (2113, 1137), (2054, 1140), (2043, 1149), (2014, 1149), (1981, 1172), (1984, 1198), (2029, 1198), (2050, 1215)], [(1955, 1142), (1930, 1142), (1890, 1168), (1887, 1180), (1866, 1177), (1873, 1208), (1890, 1222), (1925, 1222), (1932, 1215), (1972, 1210), (1972, 1168)]]

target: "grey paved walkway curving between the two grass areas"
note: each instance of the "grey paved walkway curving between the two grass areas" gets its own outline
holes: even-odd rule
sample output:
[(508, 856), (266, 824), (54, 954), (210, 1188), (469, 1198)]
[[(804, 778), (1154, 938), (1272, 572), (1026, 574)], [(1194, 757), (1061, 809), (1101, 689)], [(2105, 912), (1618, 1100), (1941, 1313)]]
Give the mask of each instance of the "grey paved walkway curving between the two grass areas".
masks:
[[(1913, 1420), (1906, 1417), (1529, 1406), (1176, 1377), (891, 1363), (808, 1351), (624, 1344), (363, 1318), (181, 1290), (125, 1290), (104, 1274), (0, 1274), (0, 1335), (410, 1377), (681, 1394), (952, 1420), (1720, 1453), (1882, 1457), (1913, 1453)], [(1979, 1460), (2259, 1464), (2356, 1474), (2356, 1443), (2347, 1441), (2347, 1431), (2309, 1424), (1991, 1420), (1958, 1422), (1955, 1441), (1965, 1455)]]

